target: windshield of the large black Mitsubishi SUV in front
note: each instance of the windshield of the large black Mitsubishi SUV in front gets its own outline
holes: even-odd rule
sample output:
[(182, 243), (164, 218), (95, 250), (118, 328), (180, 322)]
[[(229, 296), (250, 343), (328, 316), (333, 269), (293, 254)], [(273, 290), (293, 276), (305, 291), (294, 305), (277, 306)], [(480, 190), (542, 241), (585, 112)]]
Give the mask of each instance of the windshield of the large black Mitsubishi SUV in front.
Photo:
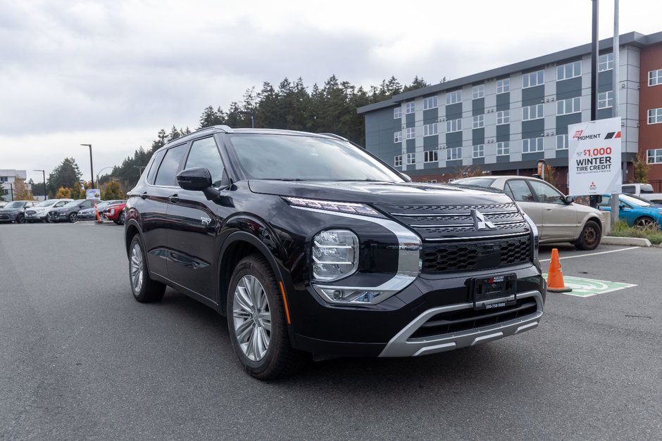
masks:
[(230, 140), (251, 179), (404, 182), (346, 141), (280, 134), (233, 134)]

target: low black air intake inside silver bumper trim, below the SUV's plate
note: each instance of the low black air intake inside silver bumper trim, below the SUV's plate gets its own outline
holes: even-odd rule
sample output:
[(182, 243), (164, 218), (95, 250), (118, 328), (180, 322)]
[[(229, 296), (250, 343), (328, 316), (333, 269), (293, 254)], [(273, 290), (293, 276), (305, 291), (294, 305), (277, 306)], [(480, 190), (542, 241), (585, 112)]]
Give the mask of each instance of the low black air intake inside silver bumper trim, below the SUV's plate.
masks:
[(535, 299), (527, 297), (518, 299), (513, 305), (495, 309), (459, 309), (442, 312), (432, 316), (430, 320), (416, 330), (409, 340), (444, 335), (455, 332), (470, 331), (483, 326), (492, 326), (505, 321), (520, 319), (537, 312)]

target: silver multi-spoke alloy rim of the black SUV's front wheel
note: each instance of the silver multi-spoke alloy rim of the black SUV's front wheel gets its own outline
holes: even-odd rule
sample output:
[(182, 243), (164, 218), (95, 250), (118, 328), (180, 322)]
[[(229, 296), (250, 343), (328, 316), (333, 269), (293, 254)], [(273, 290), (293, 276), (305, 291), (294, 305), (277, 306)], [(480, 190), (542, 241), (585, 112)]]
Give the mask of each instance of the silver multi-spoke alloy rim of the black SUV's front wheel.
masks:
[(232, 319), (242, 352), (252, 362), (259, 362), (269, 348), (271, 312), (264, 287), (255, 276), (246, 275), (237, 283)]

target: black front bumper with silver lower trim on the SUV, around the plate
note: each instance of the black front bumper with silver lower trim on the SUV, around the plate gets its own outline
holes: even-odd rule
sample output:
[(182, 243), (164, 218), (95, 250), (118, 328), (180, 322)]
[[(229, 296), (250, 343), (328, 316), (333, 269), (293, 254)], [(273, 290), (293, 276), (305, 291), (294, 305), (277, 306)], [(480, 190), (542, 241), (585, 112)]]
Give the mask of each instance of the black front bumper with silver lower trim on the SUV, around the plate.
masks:
[[(516, 274), (515, 298), (503, 307), (474, 309), (468, 279)], [(292, 343), (319, 355), (413, 357), (516, 335), (535, 328), (544, 311), (546, 286), (538, 267), (446, 276), (422, 274), (377, 305), (330, 305), (313, 290), (288, 294)]]

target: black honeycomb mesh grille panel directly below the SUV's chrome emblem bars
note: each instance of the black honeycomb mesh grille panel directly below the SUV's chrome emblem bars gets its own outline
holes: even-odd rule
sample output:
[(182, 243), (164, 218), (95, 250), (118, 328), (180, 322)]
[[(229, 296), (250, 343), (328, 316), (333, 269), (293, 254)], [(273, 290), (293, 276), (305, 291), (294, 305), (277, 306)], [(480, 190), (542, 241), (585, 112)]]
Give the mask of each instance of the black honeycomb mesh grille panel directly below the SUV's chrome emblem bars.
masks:
[(423, 244), (423, 267), (428, 274), (506, 267), (530, 259), (530, 236), (463, 243)]

